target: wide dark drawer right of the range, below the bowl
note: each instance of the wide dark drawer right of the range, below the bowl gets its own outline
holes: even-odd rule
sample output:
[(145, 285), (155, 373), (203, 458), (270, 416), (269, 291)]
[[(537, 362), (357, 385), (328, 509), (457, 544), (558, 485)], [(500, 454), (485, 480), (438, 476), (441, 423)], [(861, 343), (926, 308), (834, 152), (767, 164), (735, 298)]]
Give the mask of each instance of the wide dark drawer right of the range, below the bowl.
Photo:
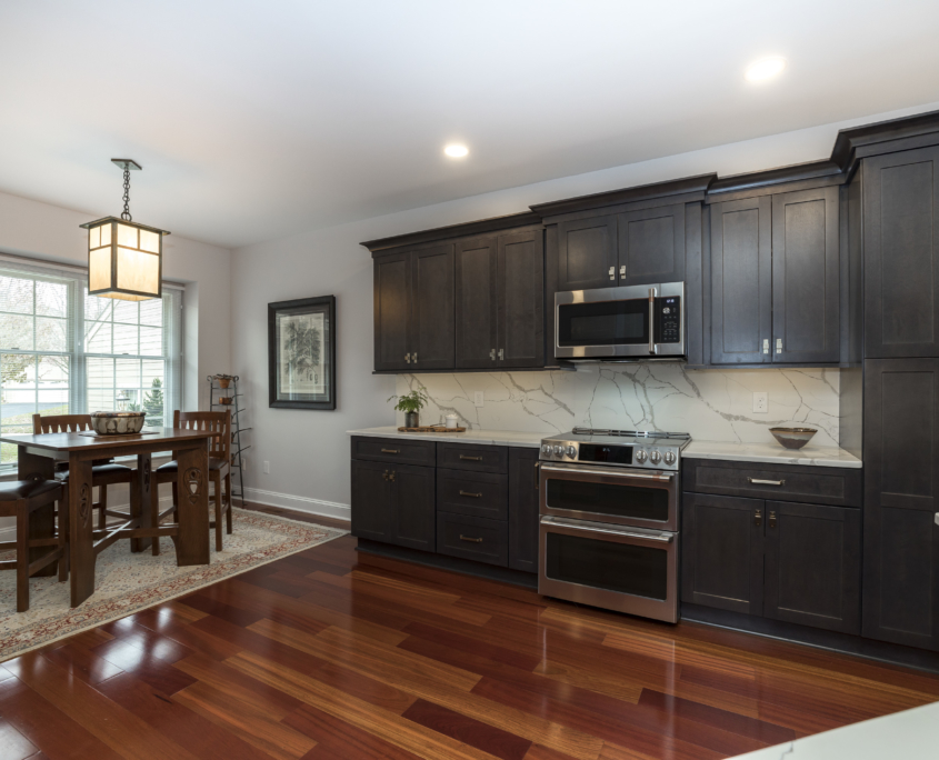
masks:
[(861, 470), (686, 459), (682, 487), (696, 493), (860, 507)]

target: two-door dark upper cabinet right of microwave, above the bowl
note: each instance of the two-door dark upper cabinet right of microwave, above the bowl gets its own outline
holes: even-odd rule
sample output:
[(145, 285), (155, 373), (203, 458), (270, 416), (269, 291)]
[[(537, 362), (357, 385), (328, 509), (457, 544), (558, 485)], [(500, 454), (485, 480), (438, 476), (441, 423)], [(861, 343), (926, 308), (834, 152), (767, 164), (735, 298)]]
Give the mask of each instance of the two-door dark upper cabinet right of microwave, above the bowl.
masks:
[(710, 207), (712, 364), (840, 359), (839, 188)]

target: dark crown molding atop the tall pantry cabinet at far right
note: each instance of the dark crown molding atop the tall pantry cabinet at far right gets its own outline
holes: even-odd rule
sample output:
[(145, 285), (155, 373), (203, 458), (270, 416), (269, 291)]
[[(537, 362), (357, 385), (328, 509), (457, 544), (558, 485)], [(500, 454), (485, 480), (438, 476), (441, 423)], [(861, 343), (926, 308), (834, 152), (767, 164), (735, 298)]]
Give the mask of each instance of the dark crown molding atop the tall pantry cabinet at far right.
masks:
[(869, 156), (898, 150), (923, 148), (939, 143), (939, 111), (852, 127), (838, 132), (831, 161), (851, 172), (857, 162)]

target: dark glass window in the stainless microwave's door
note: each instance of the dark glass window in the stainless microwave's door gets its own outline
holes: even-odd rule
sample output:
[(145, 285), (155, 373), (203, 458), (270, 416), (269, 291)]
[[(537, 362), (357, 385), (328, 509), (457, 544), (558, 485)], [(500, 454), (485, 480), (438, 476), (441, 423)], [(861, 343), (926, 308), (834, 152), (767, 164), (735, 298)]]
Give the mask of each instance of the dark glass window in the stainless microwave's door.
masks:
[(633, 299), (558, 307), (558, 346), (632, 346), (648, 342), (648, 301)]

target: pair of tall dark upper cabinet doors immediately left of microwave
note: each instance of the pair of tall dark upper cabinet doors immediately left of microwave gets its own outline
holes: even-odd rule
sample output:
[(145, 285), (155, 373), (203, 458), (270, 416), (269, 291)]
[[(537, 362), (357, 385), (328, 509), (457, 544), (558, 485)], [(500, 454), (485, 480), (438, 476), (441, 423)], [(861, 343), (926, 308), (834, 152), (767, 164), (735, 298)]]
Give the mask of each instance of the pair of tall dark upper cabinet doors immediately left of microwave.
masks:
[(543, 367), (543, 230), (457, 242), (456, 366)]

